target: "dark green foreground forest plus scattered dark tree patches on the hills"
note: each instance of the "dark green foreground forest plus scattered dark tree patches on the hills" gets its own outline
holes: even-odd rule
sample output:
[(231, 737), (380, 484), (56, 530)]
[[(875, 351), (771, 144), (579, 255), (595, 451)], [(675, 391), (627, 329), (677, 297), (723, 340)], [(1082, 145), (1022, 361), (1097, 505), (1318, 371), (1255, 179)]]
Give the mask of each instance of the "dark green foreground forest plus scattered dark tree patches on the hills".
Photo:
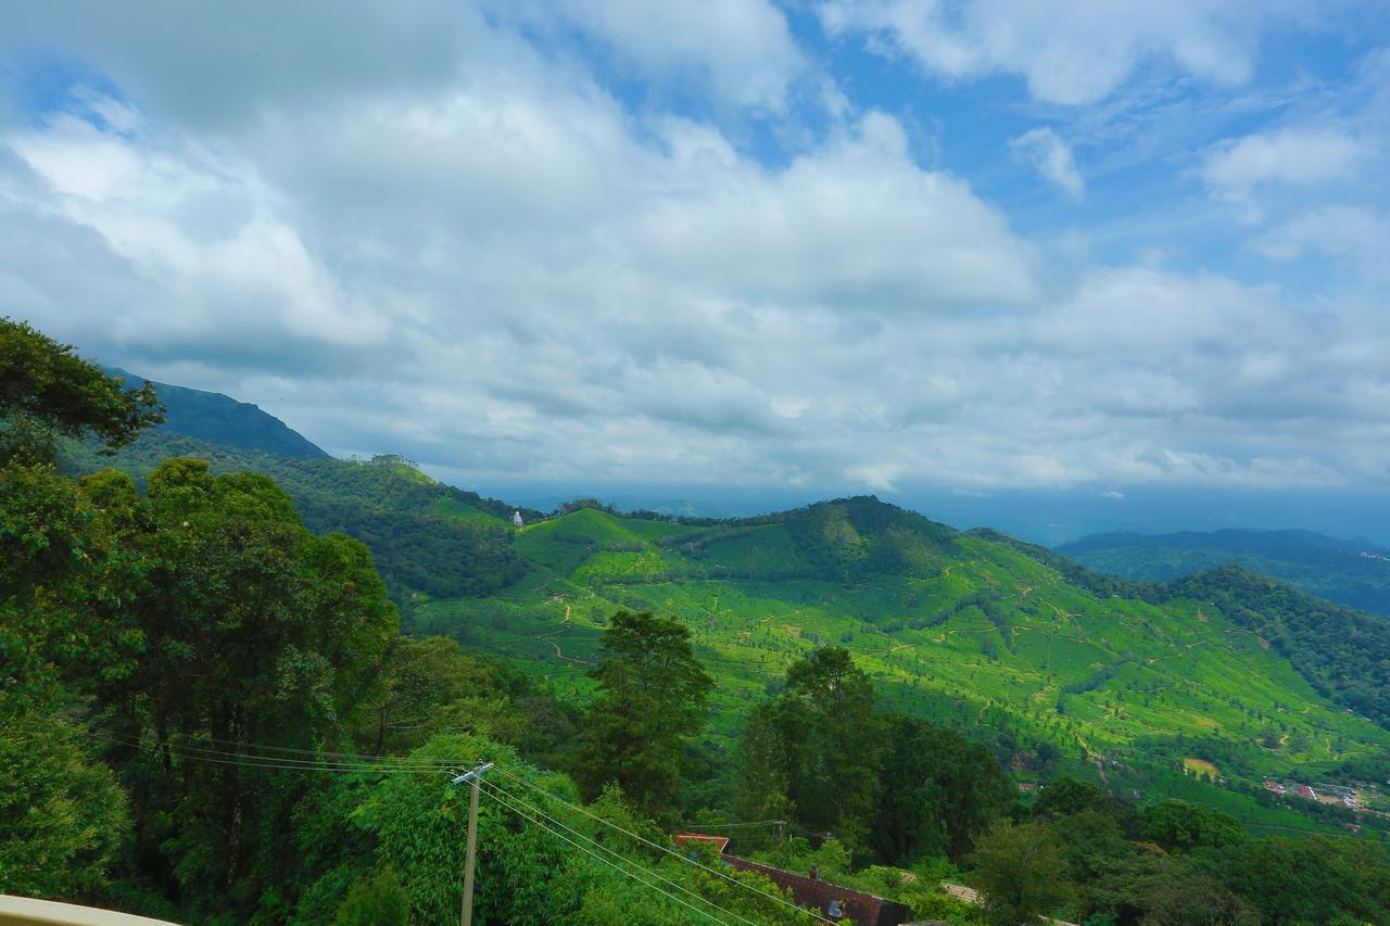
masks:
[[(1136, 804), (1065, 774), (1023, 793), (992, 744), (885, 698), (835, 641), (763, 670), (721, 752), (706, 741), (727, 679), (699, 627), (662, 608), (591, 612), (580, 697), (525, 662), (402, 634), (373, 551), (334, 530), (361, 524), (320, 510), (310, 530), (313, 499), (289, 476), (179, 455), (139, 481), (64, 473), (63, 441), (129, 445), (158, 400), (10, 321), (0, 417), (0, 893), (199, 923), (453, 922), (467, 788), (452, 781), (491, 762), (480, 922), (820, 922), (670, 840), (770, 820), (733, 848), (952, 923), (1390, 920), (1380, 841), (1257, 836), (1220, 809)], [(812, 546), (806, 564), (927, 576), (956, 542), (865, 510), (881, 523), (851, 527), (881, 539)], [(792, 537), (848, 537), (833, 514), (798, 514)], [(525, 535), (499, 530), (521, 558)], [(717, 544), (682, 542), (719, 566)], [(1244, 617), (1245, 599), (1223, 612), (1277, 619), (1276, 641), (1307, 648), (1289, 617), (1301, 599), (1265, 594), (1248, 603), (1262, 616)], [(992, 601), (963, 610), (992, 627)]]

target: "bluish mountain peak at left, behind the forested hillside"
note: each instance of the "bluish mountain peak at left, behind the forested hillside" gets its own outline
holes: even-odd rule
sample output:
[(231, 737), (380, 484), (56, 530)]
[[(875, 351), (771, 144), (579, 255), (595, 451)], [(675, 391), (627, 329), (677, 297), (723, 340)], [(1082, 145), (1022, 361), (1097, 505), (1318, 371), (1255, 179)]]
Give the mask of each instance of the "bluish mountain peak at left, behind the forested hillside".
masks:
[[(110, 367), (107, 373), (126, 382), (143, 380), (118, 367)], [(188, 389), (167, 382), (154, 382), (154, 391), (164, 403), (164, 424), (157, 425), (156, 431), (303, 460), (328, 457), (325, 450), (311, 444), (303, 434), (247, 402), (238, 402), (220, 392)]]

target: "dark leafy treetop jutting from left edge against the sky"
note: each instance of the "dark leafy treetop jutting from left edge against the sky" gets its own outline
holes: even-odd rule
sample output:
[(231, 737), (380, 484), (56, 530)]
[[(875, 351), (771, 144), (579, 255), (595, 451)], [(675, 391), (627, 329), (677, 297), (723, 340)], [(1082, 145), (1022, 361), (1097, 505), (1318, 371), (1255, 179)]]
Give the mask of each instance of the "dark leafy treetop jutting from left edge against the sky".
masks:
[(0, 460), (51, 462), (57, 435), (90, 434), (118, 448), (164, 420), (150, 382), (122, 387), (71, 345), (0, 318)]

